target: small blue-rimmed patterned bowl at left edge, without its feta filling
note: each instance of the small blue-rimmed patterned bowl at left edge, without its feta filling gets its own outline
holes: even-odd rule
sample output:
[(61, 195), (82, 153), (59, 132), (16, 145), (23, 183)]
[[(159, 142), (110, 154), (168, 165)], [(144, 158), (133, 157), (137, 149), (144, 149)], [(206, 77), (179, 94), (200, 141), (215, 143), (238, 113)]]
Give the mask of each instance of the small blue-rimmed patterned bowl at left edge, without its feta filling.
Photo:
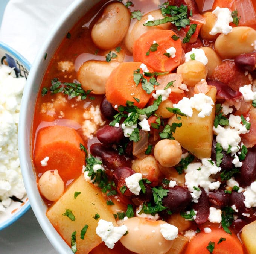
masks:
[[(0, 42), (0, 59), (1, 64), (7, 64), (11, 68), (15, 68), (15, 72), (18, 76), (26, 77), (29, 74), (30, 64), (14, 49)], [(17, 219), (19, 219), (30, 208), (30, 204), (27, 195), (22, 199), (23, 203), (11, 202), (10, 207), (6, 208), (5, 213), (0, 214), (0, 230), (8, 227)]]

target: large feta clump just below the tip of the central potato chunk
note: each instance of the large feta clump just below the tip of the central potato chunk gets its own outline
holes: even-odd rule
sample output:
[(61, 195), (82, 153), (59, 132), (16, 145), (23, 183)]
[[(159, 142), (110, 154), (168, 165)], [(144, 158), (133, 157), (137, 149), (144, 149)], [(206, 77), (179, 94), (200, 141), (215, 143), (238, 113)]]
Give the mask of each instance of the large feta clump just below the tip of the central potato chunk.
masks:
[[(201, 170), (197, 170), (199, 167)], [(204, 188), (206, 193), (209, 190), (217, 190), (219, 188), (221, 183), (210, 177), (219, 171), (221, 171), (221, 168), (217, 167), (214, 161), (207, 158), (202, 159), (202, 163), (194, 162), (187, 166), (187, 169), (185, 169), (185, 184), (191, 192), (193, 202), (197, 203), (201, 195), (201, 190), (195, 190), (194, 187), (200, 186)]]

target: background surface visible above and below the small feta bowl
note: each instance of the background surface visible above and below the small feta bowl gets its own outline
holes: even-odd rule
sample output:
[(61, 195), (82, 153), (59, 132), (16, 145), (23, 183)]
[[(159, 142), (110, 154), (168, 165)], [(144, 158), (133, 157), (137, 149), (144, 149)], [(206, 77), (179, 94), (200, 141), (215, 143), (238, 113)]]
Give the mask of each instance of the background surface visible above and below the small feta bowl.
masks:
[[(71, 2), (73, 0), (0, 0), (0, 41), (17, 50), (32, 64), (47, 33)], [(14, 224), (0, 231), (0, 253), (57, 252), (30, 209)]]

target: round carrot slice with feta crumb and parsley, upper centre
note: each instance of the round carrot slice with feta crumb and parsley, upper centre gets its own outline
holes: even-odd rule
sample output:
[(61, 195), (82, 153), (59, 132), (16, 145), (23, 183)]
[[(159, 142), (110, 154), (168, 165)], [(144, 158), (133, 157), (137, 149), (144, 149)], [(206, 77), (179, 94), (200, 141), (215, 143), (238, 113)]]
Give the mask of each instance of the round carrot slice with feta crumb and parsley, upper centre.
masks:
[[(178, 38), (175, 41), (175, 37), (173, 37), (174, 39), (172, 38), (174, 35), (177, 36), (172, 30), (159, 29), (143, 33), (143, 35), (141, 35), (134, 43), (134, 61), (143, 62), (157, 72), (174, 70), (178, 65), (180, 65), (182, 54), (181, 40)], [(157, 50), (150, 51), (150, 46), (154, 44), (154, 41), (159, 46), (157, 46)], [(171, 47), (174, 47), (176, 50), (175, 57), (173, 58), (171, 56), (168, 57), (164, 55), (167, 53), (166, 50)]]

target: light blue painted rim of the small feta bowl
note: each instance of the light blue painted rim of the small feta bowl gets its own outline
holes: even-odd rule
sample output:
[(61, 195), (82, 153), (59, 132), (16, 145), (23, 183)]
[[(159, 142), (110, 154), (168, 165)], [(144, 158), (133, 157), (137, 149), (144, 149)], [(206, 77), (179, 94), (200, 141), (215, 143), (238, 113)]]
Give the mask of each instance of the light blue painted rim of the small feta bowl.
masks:
[[(0, 49), (3, 49), (4, 51), (6, 51), (6, 53), (9, 53), (10, 55), (17, 58), (24, 65), (24, 67), (27, 68), (27, 70), (30, 70), (31, 64), (29, 63), (29, 61), (27, 61), (27, 59), (24, 58), (24, 56), (22, 56), (20, 53), (18, 53), (15, 49), (13, 49), (12, 47), (3, 43), (2, 41), (0, 41)], [(30, 203), (29, 203), (29, 200), (28, 200), (11, 217), (9, 217), (7, 220), (0, 223), (0, 231), (3, 230), (4, 228), (10, 226), (11, 224), (13, 224), (18, 219), (20, 219), (20, 217), (23, 216), (29, 210), (30, 207), (31, 206), (30, 206)]]

